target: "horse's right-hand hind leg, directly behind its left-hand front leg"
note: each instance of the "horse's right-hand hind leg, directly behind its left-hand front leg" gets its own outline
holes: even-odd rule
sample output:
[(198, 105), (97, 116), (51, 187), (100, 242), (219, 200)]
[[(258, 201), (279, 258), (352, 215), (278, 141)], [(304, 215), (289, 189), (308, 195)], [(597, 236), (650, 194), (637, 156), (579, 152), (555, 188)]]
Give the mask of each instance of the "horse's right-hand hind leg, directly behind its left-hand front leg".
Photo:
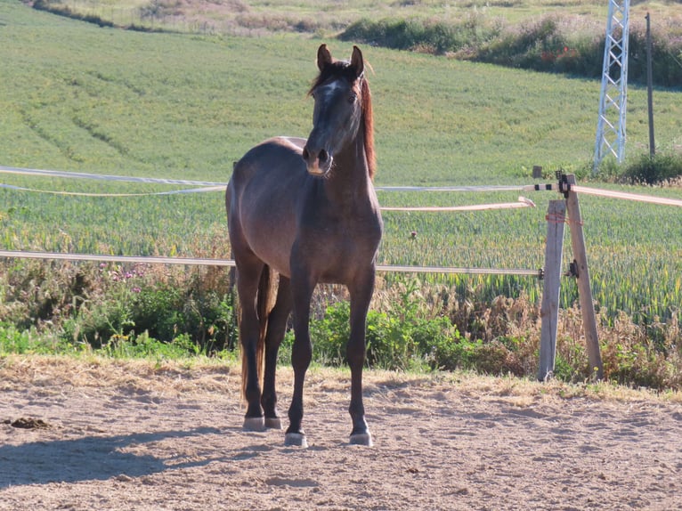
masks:
[(277, 411), (277, 391), (275, 371), (280, 344), (287, 329), (287, 320), (291, 312), (291, 287), (288, 278), (280, 275), (277, 288), (277, 300), (268, 316), (267, 333), (265, 335), (265, 372), (263, 379), (263, 397), (261, 404), (265, 413), (265, 427), (281, 429), (280, 414)]

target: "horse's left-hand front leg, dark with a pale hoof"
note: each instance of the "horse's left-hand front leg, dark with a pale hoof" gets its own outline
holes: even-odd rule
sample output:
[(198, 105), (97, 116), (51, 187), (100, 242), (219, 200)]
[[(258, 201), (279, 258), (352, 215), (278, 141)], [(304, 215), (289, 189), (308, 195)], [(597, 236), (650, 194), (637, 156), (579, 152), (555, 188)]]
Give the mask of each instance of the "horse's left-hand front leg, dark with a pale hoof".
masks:
[[(293, 269), (292, 269), (293, 272)], [(303, 387), (305, 372), (313, 358), (313, 345), (310, 341), (310, 301), (315, 283), (307, 275), (294, 282), (292, 275), (292, 296), (294, 301), (294, 345), (291, 349), (291, 364), (294, 368), (294, 395), (288, 409), (289, 426), (284, 439), (286, 445), (307, 447), (303, 422)]]

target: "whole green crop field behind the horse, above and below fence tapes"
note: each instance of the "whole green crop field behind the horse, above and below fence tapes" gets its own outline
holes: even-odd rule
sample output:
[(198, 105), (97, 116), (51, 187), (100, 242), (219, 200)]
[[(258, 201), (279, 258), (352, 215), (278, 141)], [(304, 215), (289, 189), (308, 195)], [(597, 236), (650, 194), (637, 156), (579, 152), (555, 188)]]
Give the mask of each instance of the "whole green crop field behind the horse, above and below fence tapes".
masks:
[[(601, 15), (601, 14), (600, 14)], [(11, 42), (11, 44), (10, 44)], [(317, 46), (330, 36), (145, 33), (99, 28), (0, 2), (0, 165), (226, 182), (232, 162), (275, 134), (305, 135)], [(371, 62), (377, 184), (532, 183), (564, 169), (584, 176), (594, 148), (599, 84), (445, 57), (362, 48)], [(654, 95), (657, 143), (682, 145), (679, 93)], [(631, 87), (628, 151), (646, 150), (646, 94)], [(177, 186), (0, 174), (0, 247), (116, 255), (228, 257), (219, 192), (84, 197), (37, 191), (144, 194)], [(599, 187), (623, 187), (594, 183)], [(625, 187), (680, 199), (679, 187)], [(386, 212), (381, 264), (540, 268), (549, 192), (537, 207), (476, 213)], [(517, 192), (388, 192), (386, 206), (515, 201)], [(682, 304), (678, 208), (581, 197), (595, 299), (615, 313), (670, 318)], [(416, 236), (412, 236), (412, 232)], [(568, 243), (565, 262), (572, 260)], [(386, 276), (386, 280), (392, 277)], [(430, 276), (488, 296), (528, 278)], [(485, 294), (484, 293), (484, 294)], [(566, 280), (564, 305), (576, 299)]]

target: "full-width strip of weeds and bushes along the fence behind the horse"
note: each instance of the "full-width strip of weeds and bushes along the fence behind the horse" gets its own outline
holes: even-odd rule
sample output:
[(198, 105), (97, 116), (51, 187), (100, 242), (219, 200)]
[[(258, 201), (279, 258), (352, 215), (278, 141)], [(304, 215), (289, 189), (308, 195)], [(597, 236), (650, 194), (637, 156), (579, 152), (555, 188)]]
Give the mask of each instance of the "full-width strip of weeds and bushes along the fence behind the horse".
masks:
[[(99, 349), (114, 357), (176, 358), (236, 352), (237, 307), (217, 271), (187, 276), (182, 270), (148, 266), (124, 270), (36, 261), (5, 264), (12, 272), (0, 273), (5, 291), (0, 299), (0, 355)], [(48, 271), (51, 280), (45, 279)], [(537, 301), (526, 296), (479, 301), (472, 299), (473, 292), (398, 278), (379, 288), (367, 317), (367, 365), (535, 377)], [(26, 311), (45, 309), (48, 298), (52, 315), (22, 320)], [(340, 366), (346, 363), (350, 304), (323, 298), (313, 304), (320, 311), (310, 324), (313, 360)], [(31, 303), (34, 299), (37, 304)], [(607, 312), (597, 322), (605, 379), (682, 389), (678, 309), (666, 322), (652, 318), (636, 323), (624, 313), (613, 318)], [(593, 377), (580, 324), (577, 306), (560, 313), (554, 374), (564, 381)], [(289, 331), (280, 350), (282, 363), (290, 362), (293, 338)]]

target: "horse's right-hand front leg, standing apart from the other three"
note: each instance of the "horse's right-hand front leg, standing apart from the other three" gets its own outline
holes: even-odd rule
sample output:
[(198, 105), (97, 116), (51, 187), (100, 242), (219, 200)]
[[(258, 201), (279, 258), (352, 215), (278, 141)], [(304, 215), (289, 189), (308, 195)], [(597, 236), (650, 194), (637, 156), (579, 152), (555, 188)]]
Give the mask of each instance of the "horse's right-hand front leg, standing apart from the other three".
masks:
[(372, 436), (365, 420), (365, 407), (362, 402), (362, 368), (365, 364), (367, 347), (365, 329), (369, 302), (374, 291), (374, 270), (359, 280), (360, 284), (349, 288), (351, 295), (351, 337), (346, 345), (346, 356), (351, 368), (351, 405), (348, 411), (353, 418), (353, 431), (350, 442), (356, 445), (372, 445)]

